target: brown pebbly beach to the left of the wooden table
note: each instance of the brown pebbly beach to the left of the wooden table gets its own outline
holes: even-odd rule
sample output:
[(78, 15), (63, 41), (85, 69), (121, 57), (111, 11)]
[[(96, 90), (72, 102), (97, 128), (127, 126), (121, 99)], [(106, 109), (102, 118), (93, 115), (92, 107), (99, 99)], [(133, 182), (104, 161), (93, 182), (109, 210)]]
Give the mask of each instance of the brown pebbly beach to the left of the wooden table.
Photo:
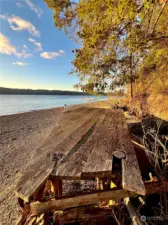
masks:
[(0, 116), (0, 225), (18, 218), (14, 190), (34, 150), (55, 127), (63, 108)]

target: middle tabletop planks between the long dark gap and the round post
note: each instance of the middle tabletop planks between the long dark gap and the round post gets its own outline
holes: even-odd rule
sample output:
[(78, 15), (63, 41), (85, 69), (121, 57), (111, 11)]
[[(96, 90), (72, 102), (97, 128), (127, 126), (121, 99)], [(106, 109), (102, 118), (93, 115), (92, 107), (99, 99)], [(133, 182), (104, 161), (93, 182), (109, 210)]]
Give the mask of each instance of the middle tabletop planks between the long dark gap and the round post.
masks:
[(122, 129), (119, 111), (106, 109), (89, 139), (67, 160), (57, 166), (56, 176), (79, 178), (85, 176), (111, 176), (112, 153), (116, 150)]

